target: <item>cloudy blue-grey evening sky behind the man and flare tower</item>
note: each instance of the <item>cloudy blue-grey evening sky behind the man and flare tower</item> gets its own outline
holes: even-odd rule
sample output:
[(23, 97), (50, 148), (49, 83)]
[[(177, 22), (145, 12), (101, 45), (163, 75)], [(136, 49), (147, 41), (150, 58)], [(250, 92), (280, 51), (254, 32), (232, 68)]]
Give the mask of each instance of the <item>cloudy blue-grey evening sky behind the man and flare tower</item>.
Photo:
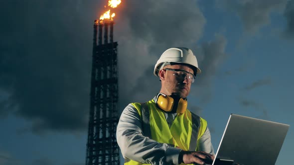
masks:
[[(107, 0), (0, 1), (0, 165), (84, 165), (93, 23)], [(115, 9), (120, 111), (153, 98), (153, 68), (190, 48), (202, 73), (188, 108), (216, 151), (231, 113), (290, 124), (294, 148), (294, 0), (122, 0)], [(253, 153), (254, 156), (254, 153)]]

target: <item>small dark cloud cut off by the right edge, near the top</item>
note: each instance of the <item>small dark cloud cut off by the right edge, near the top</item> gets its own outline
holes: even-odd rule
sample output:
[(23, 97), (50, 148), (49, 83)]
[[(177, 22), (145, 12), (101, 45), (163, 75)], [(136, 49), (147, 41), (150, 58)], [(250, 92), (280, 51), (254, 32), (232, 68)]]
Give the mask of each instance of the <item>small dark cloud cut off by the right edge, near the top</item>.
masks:
[(287, 2), (284, 16), (287, 19), (287, 26), (284, 32), (286, 38), (294, 38), (294, 0), (289, 0)]

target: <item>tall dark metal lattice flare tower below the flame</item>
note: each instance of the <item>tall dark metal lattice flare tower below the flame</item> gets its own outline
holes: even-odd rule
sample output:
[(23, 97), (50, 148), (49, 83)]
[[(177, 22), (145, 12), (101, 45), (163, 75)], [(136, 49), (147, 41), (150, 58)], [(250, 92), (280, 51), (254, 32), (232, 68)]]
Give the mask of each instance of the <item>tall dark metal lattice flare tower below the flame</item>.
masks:
[[(86, 165), (119, 165), (117, 47), (113, 21), (94, 22), (90, 116)], [(99, 31), (98, 31), (99, 28)], [(102, 31), (104, 29), (104, 36)], [(108, 30), (110, 29), (110, 32)], [(97, 44), (98, 31), (98, 44)], [(109, 34), (109, 39), (108, 39)], [(104, 43), (102, 44), (102, 38)]]

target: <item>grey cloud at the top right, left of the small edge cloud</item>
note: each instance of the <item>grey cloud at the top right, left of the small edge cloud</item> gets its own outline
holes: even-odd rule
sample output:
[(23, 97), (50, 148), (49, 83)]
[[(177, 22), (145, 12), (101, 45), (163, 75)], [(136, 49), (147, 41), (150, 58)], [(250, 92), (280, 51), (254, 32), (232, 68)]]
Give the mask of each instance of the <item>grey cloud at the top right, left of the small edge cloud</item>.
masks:
[(287, 0), (217, 0), (219, 7), (235, 12), (247, 32), (256, 32), (269, 24), (270, 14), (282, 12)]

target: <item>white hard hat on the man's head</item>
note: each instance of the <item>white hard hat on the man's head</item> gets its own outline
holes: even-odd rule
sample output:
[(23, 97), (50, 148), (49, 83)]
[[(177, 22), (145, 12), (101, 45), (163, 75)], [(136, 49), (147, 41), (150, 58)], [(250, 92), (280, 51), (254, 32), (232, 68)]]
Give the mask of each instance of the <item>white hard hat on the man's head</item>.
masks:
[(181, 63), (187, 64), (193, 67), (194, 76), (201, 73), (201, 70), (198, 68), (198, 63), (196, 56), (193, 54), (191, 49), (188, 48), (169, 48), (162, 53), (160, 58), (154, 67), (154, 75), (158, 77), (158, 72), (164, 66), (170, 65), (170, 63)]

